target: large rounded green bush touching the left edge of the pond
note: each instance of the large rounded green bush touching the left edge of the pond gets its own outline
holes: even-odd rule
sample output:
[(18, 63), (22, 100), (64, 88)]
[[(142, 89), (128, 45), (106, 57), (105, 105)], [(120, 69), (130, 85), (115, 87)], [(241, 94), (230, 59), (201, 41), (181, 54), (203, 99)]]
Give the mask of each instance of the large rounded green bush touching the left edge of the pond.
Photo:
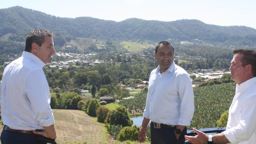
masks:
[(129, 118), (129, 114), (125, 107), (119, 106), (116, 109), (110, 111), (105, 120), (105, 124), (110, 125), (122, 125), (122, 126), (132, 126), (133, 121)]

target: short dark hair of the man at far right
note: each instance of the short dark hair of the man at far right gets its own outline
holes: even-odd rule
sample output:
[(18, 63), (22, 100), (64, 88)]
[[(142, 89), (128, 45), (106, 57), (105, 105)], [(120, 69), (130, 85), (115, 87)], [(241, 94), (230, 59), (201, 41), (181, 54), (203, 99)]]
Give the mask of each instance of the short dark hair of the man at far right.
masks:
[(234, 50), (234, 54), (243, 54), (242, 66), (251, 65), (252, 75), (256, 76), (256, 52), (254, 50)]

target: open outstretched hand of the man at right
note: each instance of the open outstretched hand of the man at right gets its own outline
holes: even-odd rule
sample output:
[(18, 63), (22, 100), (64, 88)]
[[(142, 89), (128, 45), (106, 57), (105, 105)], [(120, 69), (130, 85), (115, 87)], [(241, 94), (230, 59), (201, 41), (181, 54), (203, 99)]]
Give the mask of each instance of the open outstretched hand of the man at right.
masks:
[(195, 128), (193, 128), (193, 131), (195, 131), (195, 133), (197, 133), (197, 136), (190, 137), (190, 136), (185, 135), (185, 138), (189, 142), (191, 142), (192, 144), (207, 144), (207, 142), (208, 142), (208, 135), (206, 135), (202, 131), (198, 131)]

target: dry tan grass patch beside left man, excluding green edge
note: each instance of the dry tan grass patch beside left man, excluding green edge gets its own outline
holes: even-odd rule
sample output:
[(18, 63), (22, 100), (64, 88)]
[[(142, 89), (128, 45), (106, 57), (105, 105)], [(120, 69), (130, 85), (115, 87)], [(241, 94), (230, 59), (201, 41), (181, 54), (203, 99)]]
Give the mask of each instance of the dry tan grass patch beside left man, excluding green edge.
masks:
[(102, 128), (83, 111), (54, 109), (57, 142), (102, 141)]

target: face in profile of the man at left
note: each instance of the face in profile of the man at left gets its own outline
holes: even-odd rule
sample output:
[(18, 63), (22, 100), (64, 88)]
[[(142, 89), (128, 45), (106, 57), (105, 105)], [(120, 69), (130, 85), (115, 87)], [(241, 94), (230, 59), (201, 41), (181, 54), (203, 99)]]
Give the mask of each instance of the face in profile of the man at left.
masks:
[(52, 37), (45, 37), (45, 42), (42, 46), (37, 45), (36, 56), (44, 63), (50, 63), (52, 60), (52, 54), (55, 54), (54, 43)]

